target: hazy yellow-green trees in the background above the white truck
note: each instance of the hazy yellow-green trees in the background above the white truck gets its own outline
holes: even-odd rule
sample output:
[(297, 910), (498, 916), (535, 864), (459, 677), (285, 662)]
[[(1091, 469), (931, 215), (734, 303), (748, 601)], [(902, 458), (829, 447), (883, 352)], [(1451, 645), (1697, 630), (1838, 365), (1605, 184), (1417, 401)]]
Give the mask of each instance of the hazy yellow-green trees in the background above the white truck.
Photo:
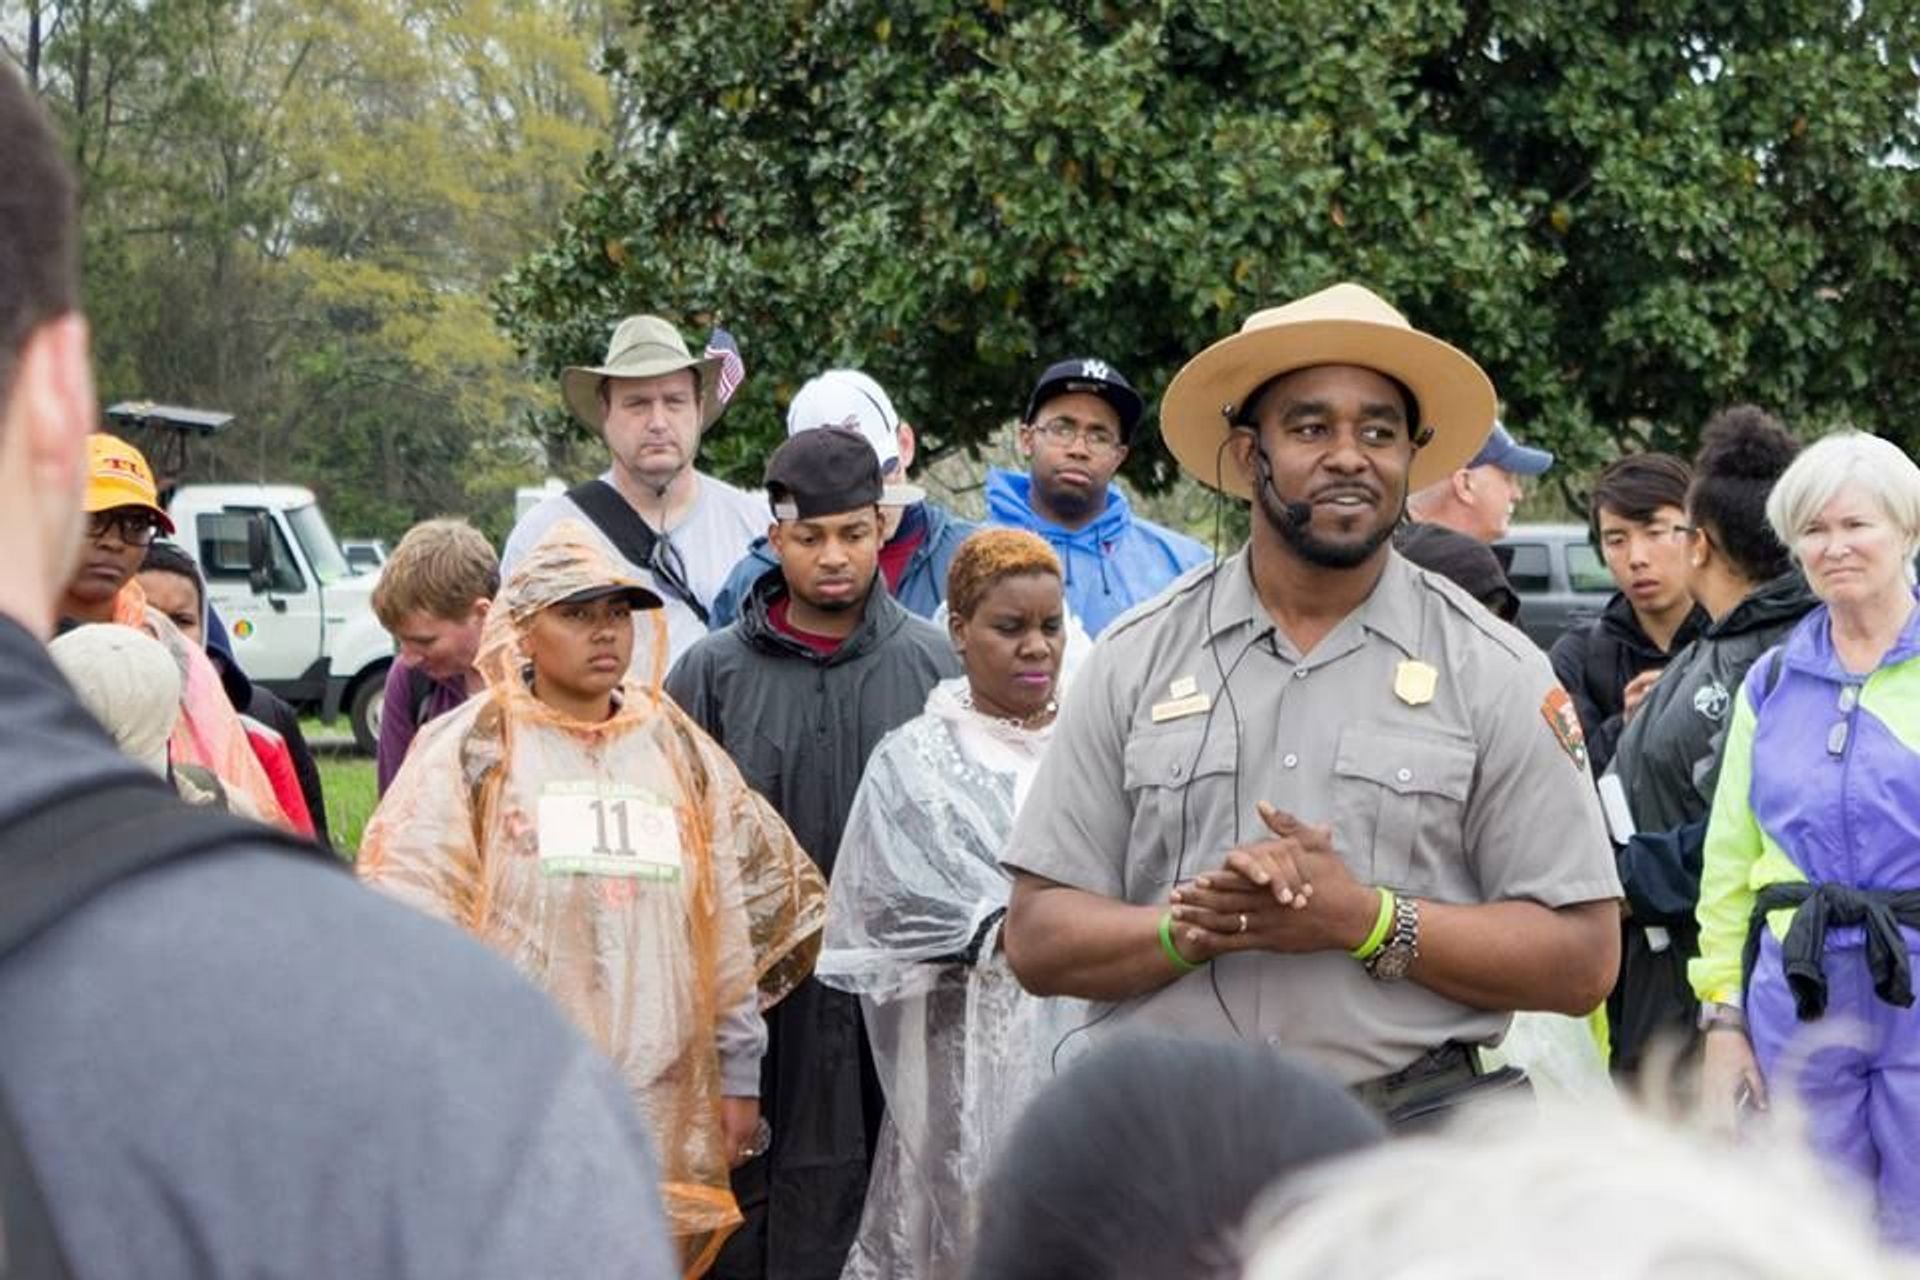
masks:
[(35, 4), (15, 38), (83, 175), (102, 399), (236, 413), (192, 478), (309, 484), (344, 533), (503, 533), (547, 388), (486, 290), (605, 138), (599, 6)]

